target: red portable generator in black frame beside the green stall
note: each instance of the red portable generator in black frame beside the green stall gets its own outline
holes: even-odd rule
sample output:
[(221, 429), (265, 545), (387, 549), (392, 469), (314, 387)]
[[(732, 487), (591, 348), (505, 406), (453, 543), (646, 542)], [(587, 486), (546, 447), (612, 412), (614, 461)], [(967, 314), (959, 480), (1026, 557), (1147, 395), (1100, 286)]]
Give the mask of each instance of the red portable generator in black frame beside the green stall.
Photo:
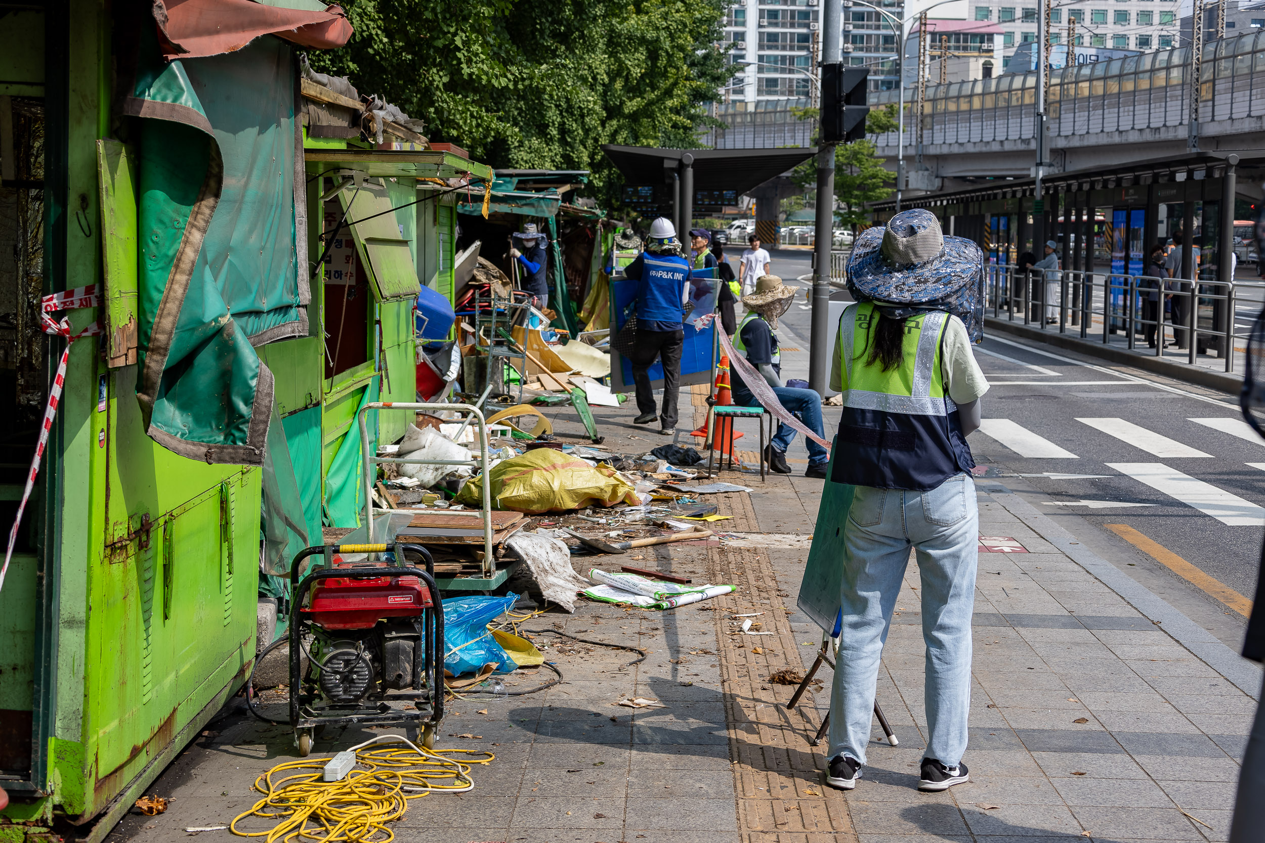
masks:
[[(342, 559), (387, 552), (393, 561)], [(302, 561), (318, 555), (324, 566), (299, 581)], [(426, 570), (410, 564), (417, 560)], [(324, 545), (295, 556), (290, 723), (300, 756), (311, 752), (320, 725), (416, 723), (420, 743), (434, 746), (444, 717), (444, 607), (434, 570), (420, 545)]]

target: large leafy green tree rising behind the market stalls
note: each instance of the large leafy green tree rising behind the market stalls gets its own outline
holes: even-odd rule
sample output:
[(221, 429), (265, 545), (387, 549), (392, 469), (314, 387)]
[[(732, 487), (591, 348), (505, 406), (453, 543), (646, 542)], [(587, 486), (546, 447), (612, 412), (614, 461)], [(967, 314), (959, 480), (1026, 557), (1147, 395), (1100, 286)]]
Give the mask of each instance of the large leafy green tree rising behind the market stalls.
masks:
[(355, 34), (310, 56), (493, 167), (592, 169), (601, 144), (698, 145), (729, 73), (724, 0), (348, 0)]

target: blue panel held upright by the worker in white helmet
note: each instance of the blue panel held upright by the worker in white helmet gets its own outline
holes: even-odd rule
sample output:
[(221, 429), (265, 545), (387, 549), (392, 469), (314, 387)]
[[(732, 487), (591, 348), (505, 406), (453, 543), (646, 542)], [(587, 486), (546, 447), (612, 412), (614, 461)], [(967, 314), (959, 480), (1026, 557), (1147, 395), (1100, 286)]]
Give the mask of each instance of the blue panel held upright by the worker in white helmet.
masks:
[[(635, 312), (636, 289), (640, 282), (632, 279), (611, 282), (611, 335), (617, 335)], [(702, 330), (694, 327), (693, 320), (706, 313), (716, 312), (716, 297), (720, 286), (715, 269), (694, 269), (689, 273), (688, 315), (682, 316), (682, 329), (686, 332), (681, 351), (681, 385), (711, 383), (715, 369), (713, 350), (716, 346), (715, 320)], [(682, 306), (684, 311), (684, 306)], [(663, 364), (655, 360), (649, 369), (650, 382), (655, 388), (663, 387)], [(611, 349), (611, 388), (616, 392), (632, 388), (632, 363), (617, 350)]]

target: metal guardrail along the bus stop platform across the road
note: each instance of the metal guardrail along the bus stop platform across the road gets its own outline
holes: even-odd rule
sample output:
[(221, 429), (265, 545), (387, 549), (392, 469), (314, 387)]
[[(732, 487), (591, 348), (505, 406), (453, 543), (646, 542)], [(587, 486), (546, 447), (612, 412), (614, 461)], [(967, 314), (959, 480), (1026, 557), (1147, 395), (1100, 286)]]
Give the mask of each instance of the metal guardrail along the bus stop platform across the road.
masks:
[[(1130, 350), (1147, 326), (1155, 329), (1155, 356), (1164, 356), (1165, 331), (1187, 350), (1187, 363), (1195, 365), (1204, 345), (1225, 360), (1225, 370), (1235, 370), (1235, 341), (1246, 341), (1249, 331), (1236, 331), (1238, 303), (1256, 303), (1265, 297), (1265, 282), (1156, 278), (1082, 270), (1046, 269), (1020, 272), (1016, 267), (989, 265), (985, 273), (985, 311), (993, 318), (1036, 322), (1041, 330), (1059, 334), (1078, 331), (1082, 339), (1101, 335), (1109, 344), (1112, 335), (1125, 334)], [(1246, 297), (1247, 291), (1261, 296)], [(1157, 292), (1159, 318), (1146, 318), (1144, 301)], [(1164, 301), (1184, 302), (1180, 324), (1165, 321)], [(1101, 322), (1095, 325), (1095, 322)], [(1200, 343), (1203, 340), (1203, 343)]]

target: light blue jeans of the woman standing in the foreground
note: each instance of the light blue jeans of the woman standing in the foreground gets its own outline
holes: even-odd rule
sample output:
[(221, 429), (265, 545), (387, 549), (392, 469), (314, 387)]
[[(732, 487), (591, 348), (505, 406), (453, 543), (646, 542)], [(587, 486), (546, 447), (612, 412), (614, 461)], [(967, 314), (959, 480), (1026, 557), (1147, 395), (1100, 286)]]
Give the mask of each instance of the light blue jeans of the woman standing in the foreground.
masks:
[(979, 547), (975, 483), (960, 474), (930, 492), (856, 487), (848, 522), (830, 757), (865, 763), (879, 660), (912, 546), (927, 645), (923, 704), (930, 734), (923, 756), (953, 767), (966, 751), (970, 710), (970, 617)]

